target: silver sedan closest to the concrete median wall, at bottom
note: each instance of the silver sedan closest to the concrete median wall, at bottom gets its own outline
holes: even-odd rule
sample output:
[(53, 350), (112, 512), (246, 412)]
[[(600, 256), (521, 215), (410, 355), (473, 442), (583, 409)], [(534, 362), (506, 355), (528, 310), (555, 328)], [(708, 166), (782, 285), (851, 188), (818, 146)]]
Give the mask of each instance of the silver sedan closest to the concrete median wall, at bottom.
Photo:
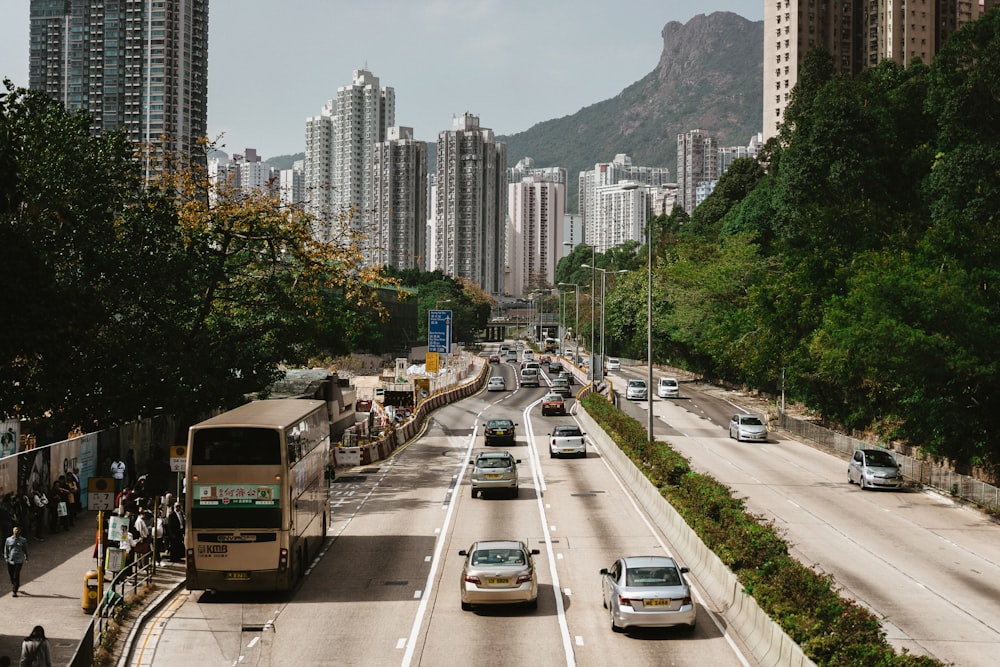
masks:
[(679, 567), (667, 556), (619, 558), (601, 569), (604, 608), (611, 613), (611, 629), (695, 626), (697, 609), (691, 589)]

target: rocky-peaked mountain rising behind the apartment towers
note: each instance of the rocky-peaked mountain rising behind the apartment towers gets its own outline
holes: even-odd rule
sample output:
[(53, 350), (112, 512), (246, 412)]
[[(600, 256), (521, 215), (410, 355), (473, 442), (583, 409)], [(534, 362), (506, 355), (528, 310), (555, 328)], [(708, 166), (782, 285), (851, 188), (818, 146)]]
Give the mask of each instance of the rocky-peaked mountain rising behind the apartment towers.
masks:
[[(513, 166), (531, 157), (536, 167), (566, 167), (575, 211), (579, 172), (618, 153), (627, 153), (633, 164), (669, 167), (675, 174), (682, 132), (704, 130), (720, 146), (748, 144), (762, 130), (764, 22), (715, 12), (686, 24), (671, 21), (660, 34), (663, 53), (656, 68), (615, 97), (497, 137), (507, 144), (507, 162)], [(267, 162), (290, 168), (302, 156)]]

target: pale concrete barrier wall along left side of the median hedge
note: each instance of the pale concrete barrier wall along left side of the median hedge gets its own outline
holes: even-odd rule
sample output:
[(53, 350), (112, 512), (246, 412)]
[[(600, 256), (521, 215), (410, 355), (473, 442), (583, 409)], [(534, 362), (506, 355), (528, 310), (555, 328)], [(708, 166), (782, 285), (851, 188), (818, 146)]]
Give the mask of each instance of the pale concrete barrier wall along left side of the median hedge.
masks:
[(636, 468), (587, 411), (581, 408), (577, 417), (583, 430), (600, 447), (604, 459), (635, 493), (636, 500), (653, 523), (670, 540), (677, 550), (675, 555), (691, 569), (705, 592), (718, 604), (729, 628), (743, 640), (755, 660), (763, 667), (814, 667), (815, 663), (802, 648), (771, 620), (752, 596), (744, 592), (736, 575), (705, 546), (663, 498), (659, 489)]

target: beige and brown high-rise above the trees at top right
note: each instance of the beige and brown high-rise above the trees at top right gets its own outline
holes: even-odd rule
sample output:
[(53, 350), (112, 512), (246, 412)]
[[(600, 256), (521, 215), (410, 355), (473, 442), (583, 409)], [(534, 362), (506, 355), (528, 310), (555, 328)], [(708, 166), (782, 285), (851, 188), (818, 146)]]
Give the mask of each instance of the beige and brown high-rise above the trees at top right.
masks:
[(764, 140), (778, 134), (806, 53), (821, 47), (841, 74), (882, 60), (930, 63), (948, 36), (996, 0), (768, 0), (764, 2)]

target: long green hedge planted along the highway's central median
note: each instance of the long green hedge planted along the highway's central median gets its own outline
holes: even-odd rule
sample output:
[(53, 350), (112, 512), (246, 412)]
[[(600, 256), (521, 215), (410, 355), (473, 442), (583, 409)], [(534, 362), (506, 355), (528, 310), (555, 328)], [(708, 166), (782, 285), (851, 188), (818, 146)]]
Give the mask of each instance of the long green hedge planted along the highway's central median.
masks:
[(748, 513), (728, 487), (691, 471), (667, 443), (648, 443), (642, 426), (600, 395), (588, 394), (582, 404), (705, 546), (736, 574), (761, 609), (817, 665), (940, 665), (933, 658), (895, 653), (875, 615), (842, 598), (832, 577), (790, 557), (774, 525)]

